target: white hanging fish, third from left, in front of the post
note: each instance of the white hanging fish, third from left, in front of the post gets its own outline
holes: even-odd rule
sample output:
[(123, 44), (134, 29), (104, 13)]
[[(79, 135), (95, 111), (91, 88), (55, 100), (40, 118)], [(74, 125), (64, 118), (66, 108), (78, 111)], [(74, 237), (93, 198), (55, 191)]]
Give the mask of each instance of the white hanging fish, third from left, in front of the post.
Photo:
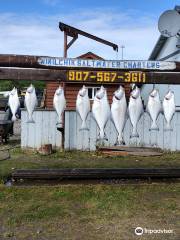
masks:
[(62, 124), (62, 113), (66, 107), (66, 99), (64, 97), (64, 90), (59, 86), (54, 94), (53, 106), (58, 115), (58, 122), (56, 124)]

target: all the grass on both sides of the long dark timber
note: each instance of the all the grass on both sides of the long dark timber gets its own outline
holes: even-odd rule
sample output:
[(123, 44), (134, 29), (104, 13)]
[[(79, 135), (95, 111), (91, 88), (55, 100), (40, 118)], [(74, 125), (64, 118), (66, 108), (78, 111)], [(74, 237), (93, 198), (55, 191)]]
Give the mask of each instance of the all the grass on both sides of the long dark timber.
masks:
[[(0, 152), (2, 159), (3, 152)], [(107, 157), (97, 152), (50, 156), (11, 150), (0, 161), (3, 182), (13, 169), (180, 167), (180, 153), (160, 157)], [(0, 239), (180, 239), (180, 183), (13, 186), (0, 184)], [(137, 226), (173, 234), (137, 237)]]

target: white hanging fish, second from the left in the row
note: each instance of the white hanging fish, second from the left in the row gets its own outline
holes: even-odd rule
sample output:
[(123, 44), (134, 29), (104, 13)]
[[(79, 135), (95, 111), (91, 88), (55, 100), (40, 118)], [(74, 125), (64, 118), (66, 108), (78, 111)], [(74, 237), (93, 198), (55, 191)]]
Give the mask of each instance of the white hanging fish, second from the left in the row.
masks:
[(28, 112), (27, 123), (35, 123), (32, 116), (35, 108), (37, 107), (38, 101), (36, 90), (32, 84), (26, 90), (24, 103)]

